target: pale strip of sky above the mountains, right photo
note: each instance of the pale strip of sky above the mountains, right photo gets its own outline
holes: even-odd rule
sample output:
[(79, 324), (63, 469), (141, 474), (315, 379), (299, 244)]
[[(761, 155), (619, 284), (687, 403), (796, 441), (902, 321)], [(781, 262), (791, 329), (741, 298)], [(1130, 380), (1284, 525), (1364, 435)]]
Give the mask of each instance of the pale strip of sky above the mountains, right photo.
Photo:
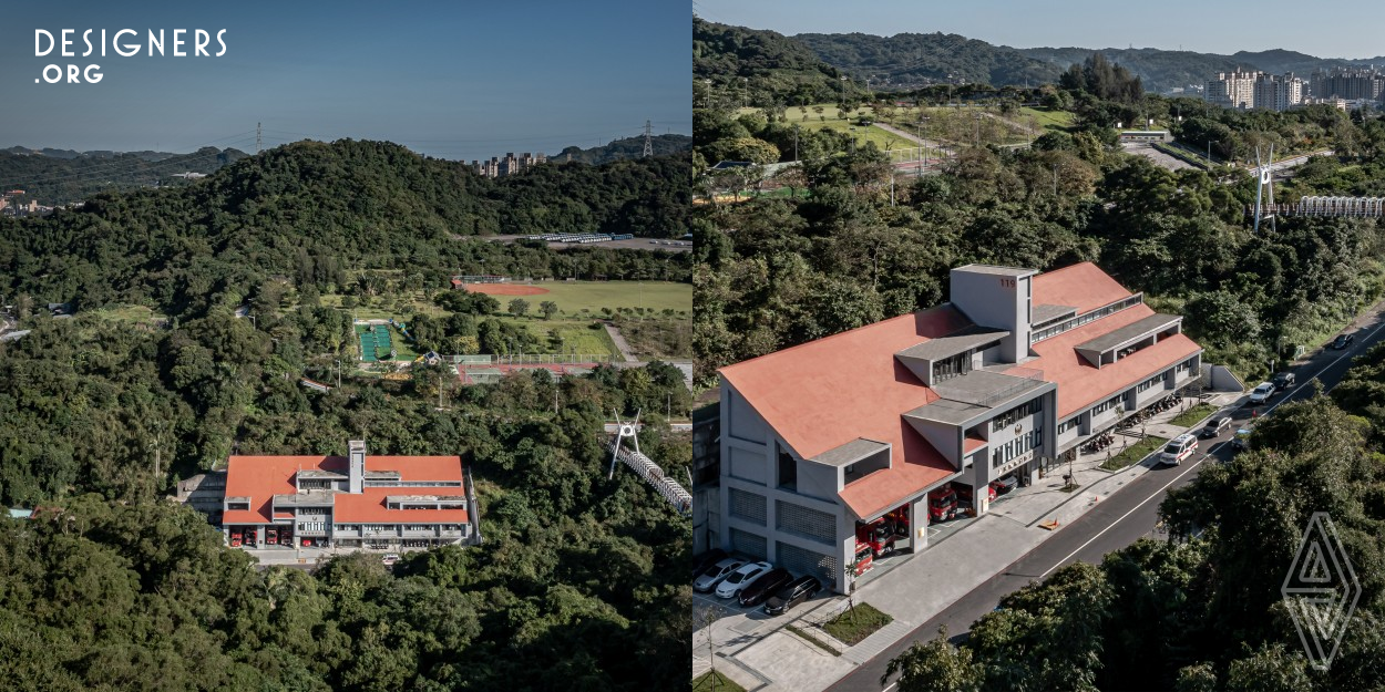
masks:
[(713, 22), (795, 33), (958, 33), (1017, 48), (1287, 48), (1321, 58), (1385, 55), (1379, 0), (694, 0)]

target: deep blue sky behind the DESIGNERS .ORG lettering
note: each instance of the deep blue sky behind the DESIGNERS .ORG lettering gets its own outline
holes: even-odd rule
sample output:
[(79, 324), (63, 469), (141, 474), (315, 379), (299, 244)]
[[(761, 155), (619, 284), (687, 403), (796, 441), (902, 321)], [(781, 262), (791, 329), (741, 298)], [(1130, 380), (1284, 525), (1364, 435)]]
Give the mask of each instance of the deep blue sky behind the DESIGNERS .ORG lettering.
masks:
[[(691, 131), (691, 8), (633, 0), (447, 3), (7, 3), (0, 147), (253, 151), (305, 137), (391, 140), (452, 159)], [(137, 57), (82, 32), (136, 29)], [(35, 29), (76, 29), (76, 57), (35, 55)], [(165, 57), (148, 57), (163, 29)], [(173, 29), (226, 29), (222, 57), (173, 57)], [(122, 43), (130, 43), (130, 37)], [(191, 53), (191, 48), (187, 48)], [(35, 83), (98, 64), (96, 84)]]

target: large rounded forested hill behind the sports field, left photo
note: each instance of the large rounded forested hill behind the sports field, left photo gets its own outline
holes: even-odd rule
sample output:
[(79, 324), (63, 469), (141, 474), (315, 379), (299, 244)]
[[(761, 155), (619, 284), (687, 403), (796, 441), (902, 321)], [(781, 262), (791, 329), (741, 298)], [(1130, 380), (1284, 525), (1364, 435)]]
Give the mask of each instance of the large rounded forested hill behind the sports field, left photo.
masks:
[[(496, 233), (687, 233), (687, 158), (537, 166), (488, 180), (461, 163), (384, 143), (298, 143), (169, 190), (97, 195), (83, 209), (0, 219), (0, 293), (33, 302), (238, 304), (269, 277), (339, 288), (348, 270), (395, 268), (446, 285), (481, 274), (654, 275), (686, 260), (644, 251), (550, 253), (475, 238)], [(485, 270), (485, 271), (483, 271)], [(686, 275), (686, 274), (684, 274)], [(677, 278), (673, 274), (672, 278)]]

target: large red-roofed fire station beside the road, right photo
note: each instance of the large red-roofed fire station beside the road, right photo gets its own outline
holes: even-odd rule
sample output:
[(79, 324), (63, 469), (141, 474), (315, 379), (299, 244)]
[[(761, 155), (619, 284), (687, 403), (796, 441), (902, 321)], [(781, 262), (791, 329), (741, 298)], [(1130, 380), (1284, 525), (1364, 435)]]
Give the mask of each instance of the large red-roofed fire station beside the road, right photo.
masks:
[[(1190, 385), (1202, 349), (1096, 264), (951, 270), (951, 302), (726, 367), (719, 540), (846, 588), (881, 519), (927, 547), (933, 490), (1036, 480)], [(1055, 471), (1057, 472), (1057, 471)]]

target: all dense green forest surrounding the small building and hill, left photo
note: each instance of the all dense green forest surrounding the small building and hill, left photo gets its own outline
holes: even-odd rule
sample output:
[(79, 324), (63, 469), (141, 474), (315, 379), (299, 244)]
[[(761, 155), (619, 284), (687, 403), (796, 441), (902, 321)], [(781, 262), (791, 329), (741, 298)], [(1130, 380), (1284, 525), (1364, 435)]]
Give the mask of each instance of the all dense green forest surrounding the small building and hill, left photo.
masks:
[[(684, 685), (688, 523), (634, 475), (607, 480), (602, 432), (612, 411), (644, 411), (641, 448), (681, 477), (688, 443), (652, 414), (691, 407), (681, 371), (519, 371), (467, 388), (446, 364), (356, 371), (350, 313), (323, 298), (407, 286), (442, 310), (431, 324), (400, 314), (429, 339), (518, 346), (497, 300), (440, 291), (452, 273), (686, 281), (687, 253), (478, 235), (681, 233), (686, 179), (686, 156), (488, 181), (392, 144), (301, 143), (187, 187), (0, 221), (0, 304), (30, 329), (0, 343), (0, 502), (43, 508), (0, 522), (0, 686)], [(42, 307), (60, 300), (76, 316)], [(485, 544), (393, 570), (349, 556), (258, 572), (166, 498), (233, 453), (343, 454), (348, 439), (458, 454)]]

